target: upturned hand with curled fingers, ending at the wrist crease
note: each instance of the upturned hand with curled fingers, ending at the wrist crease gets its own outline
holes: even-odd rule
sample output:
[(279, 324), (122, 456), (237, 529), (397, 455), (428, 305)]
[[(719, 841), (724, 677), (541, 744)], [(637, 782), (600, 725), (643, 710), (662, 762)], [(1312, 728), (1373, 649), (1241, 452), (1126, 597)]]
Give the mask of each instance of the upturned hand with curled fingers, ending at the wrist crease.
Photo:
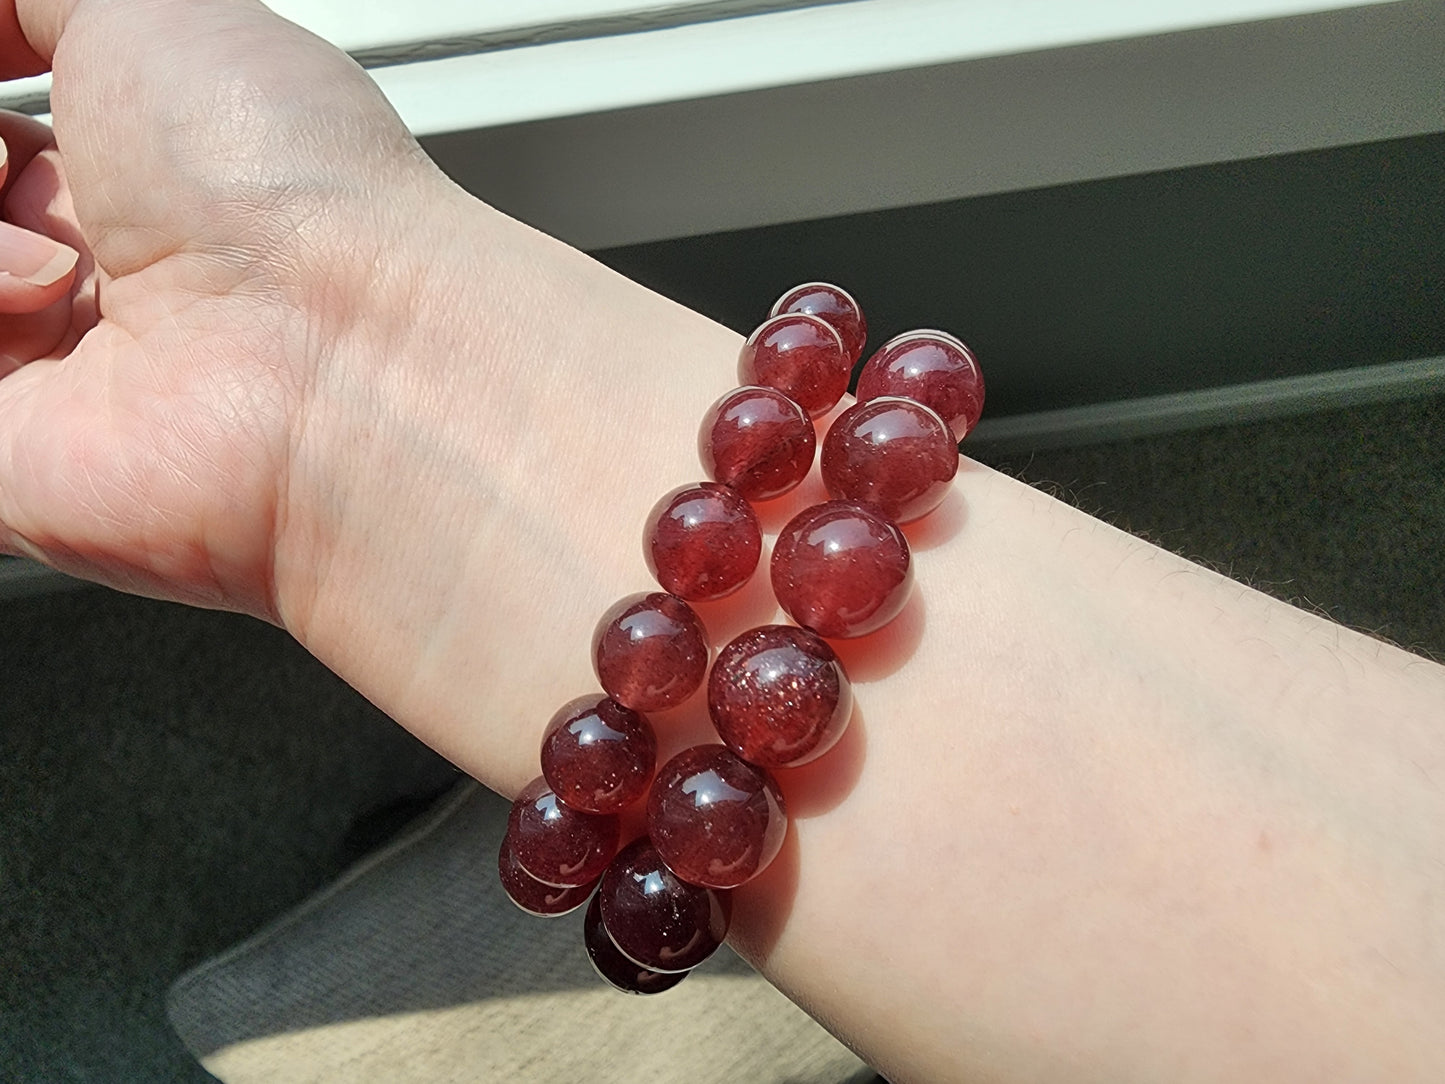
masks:
[(0, 549), (276, 619), (308, 403), (389, 215), (445, 185), (354, 64), (259, 3), (10, 7), (0, 74), (53, 62), (55, 132), (0, 117)]

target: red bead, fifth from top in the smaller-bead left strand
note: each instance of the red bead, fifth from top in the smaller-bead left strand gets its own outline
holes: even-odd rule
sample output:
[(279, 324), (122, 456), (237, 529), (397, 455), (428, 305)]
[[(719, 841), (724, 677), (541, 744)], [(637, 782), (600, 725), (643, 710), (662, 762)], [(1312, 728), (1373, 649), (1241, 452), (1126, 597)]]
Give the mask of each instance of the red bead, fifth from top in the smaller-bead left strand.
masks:
[(592, 666), (607, 695), (633, 711), (676, 707), (708, 669), (702, 621), (681, 598), (653, 591), (608, 607), (592, 633)]

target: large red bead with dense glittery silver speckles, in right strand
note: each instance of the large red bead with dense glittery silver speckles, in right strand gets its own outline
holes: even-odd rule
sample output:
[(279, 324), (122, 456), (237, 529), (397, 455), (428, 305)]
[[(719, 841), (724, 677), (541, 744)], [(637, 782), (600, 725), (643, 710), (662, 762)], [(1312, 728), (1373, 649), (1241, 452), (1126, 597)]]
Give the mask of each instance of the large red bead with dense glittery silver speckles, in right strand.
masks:
[(853, 687), (821, 636), (764, 624), (718, 652), (708, 676), (708, 713), (722, 741), (744, 760), (798, 767), (842, 737), (853, 715)]

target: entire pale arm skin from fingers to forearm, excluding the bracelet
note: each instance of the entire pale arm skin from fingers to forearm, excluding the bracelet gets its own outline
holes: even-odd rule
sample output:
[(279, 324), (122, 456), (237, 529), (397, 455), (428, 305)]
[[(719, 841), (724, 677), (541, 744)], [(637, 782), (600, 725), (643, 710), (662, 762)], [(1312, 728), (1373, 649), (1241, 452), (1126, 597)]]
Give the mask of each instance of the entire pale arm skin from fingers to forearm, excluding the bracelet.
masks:
[[(260, 4), (0, 0), (0, 74), (52, 65), (53, 140), (0, 119), (68, 246), (0, 236), (3, 549), (276, 621), (514, 792), (737, 337)], [(909, 533), (736, 947), (896, 1081), (1445, 1078), (1445, 669), (968, 461)]]

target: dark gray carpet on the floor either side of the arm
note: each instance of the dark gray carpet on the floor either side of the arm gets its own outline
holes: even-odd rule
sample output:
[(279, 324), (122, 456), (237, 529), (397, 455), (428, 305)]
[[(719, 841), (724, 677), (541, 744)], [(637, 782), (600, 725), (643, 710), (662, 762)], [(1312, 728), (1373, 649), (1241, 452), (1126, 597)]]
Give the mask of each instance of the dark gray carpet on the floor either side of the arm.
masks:
[[(1445, 397), (996, 465), (1445, 655)], [(166, 1028), (171, 978), (452, 770), (246, 619), (78, 591), (0, 606), (0, 1080), (208, 1080)]]

